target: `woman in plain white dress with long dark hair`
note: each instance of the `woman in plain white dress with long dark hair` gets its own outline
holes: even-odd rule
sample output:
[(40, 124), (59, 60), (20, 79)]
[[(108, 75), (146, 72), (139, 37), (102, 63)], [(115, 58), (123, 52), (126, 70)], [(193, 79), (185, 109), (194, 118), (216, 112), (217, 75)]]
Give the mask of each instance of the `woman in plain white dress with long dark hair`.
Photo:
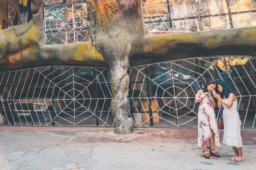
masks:
[(218, 108), (223, 108), (223, 143), (233, 148), (235, 156), (230, 160), (240, 162), (244, 160), (244, 157), (240, 132), (241, 120), (237, 112), (237, 99), (225, 80), (218, 83), (218, 90), (220, 94), (213, 93), (213, 96), (218, 99)]

